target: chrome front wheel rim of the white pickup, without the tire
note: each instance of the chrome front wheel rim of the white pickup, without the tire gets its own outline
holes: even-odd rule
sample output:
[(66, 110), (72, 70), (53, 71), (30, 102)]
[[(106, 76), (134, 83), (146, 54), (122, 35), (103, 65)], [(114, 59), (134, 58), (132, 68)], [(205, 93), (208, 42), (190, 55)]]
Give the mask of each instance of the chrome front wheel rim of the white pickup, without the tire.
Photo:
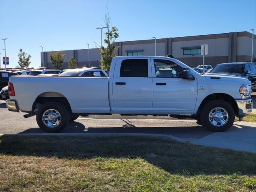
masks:
[(223, 126), (228, 122), (228, 112), (224, 108), (216, 107), (210, 111), (209, 120), (214, 126)]

